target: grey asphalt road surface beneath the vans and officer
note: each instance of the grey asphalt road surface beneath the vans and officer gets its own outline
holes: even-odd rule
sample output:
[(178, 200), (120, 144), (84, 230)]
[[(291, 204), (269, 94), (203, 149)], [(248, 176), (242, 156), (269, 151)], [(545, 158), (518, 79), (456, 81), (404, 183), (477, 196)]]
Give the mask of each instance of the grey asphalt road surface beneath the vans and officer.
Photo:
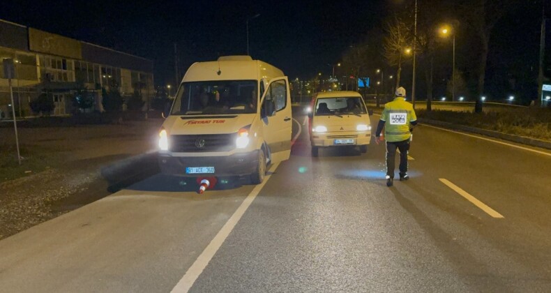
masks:
[(419, 126), (387, 188), (383, 145), (303, 130), (263, 185), (156, 174), (0, 241), (0, 292), (551, 291), (551, 152)]

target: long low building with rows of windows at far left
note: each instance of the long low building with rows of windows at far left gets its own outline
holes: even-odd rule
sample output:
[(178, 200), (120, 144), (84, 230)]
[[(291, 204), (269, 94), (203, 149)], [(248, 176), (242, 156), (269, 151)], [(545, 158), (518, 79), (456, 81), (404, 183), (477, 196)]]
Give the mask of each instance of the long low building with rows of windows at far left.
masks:
[[(149, 59), (0, 20), (0, 61), (6, 58), (15, 62), (13, 106), (18, 117), (33, 116), (31, 100), (42, 93), (52, 98), (54, 115), (82, 111), (73, 103), (77, 92), (93, 98), (88, 111), (100, 112), (103, 90), (118, 88), (123, 97), (139, 95), (145, 102), (154, 96)], [(8, 80), (0, 70), (0, 119), (11, 118), (11, 107)]]

